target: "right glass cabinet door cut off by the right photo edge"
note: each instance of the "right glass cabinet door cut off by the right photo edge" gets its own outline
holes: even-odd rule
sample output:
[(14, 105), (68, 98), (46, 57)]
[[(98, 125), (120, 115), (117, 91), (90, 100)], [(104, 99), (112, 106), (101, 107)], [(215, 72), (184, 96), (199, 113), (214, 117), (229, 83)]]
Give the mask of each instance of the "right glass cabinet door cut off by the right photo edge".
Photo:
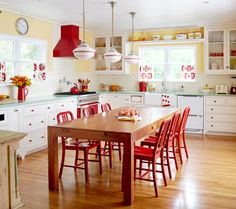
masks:
[(228, 31), (227, 68), (236, 73), (236, 29)]

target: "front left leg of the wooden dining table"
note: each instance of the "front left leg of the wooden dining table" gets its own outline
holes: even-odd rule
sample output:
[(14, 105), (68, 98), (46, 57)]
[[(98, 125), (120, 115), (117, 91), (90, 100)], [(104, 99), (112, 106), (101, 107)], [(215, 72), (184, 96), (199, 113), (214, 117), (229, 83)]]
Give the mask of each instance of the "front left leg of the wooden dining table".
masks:
[(51, 127), (48, 127), (48, 186), (51, 191), (59, 189), (58, 139), (56, 131)]

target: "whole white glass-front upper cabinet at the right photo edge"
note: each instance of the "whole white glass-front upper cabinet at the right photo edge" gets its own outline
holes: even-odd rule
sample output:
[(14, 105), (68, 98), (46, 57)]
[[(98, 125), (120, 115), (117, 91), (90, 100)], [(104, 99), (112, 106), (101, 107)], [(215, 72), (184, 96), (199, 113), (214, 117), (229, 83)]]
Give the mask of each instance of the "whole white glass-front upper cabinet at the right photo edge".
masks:
[(236, 29), (206, 31), (205, 72), (236, 74)]

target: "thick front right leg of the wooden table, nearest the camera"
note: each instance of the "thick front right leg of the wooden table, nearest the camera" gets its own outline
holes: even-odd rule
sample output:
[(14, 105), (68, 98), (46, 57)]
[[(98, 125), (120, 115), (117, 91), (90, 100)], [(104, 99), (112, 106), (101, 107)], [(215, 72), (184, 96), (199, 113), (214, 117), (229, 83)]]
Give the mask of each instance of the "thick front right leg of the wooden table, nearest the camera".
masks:
[(134, 200), (134, 144), (131, 138), (124, 142), (122, 191), (124, 192), (124, 203), (131, 205)]

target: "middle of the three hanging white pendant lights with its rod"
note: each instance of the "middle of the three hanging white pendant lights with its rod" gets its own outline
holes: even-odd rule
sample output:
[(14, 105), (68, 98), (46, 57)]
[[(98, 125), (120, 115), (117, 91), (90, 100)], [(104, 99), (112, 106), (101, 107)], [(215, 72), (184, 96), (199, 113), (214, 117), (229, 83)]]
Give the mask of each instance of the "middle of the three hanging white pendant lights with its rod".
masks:
[(122, 55), (116, 51), (113, 46), (113, 35), (114, 35), (114, 6), (115, 2), (111, 1), (111, 8), (112, 8), (112, 37), (111, 37), (111, 49), (104, 54), (104, 59), (110, 63), (115, 63), (121, 60)]

